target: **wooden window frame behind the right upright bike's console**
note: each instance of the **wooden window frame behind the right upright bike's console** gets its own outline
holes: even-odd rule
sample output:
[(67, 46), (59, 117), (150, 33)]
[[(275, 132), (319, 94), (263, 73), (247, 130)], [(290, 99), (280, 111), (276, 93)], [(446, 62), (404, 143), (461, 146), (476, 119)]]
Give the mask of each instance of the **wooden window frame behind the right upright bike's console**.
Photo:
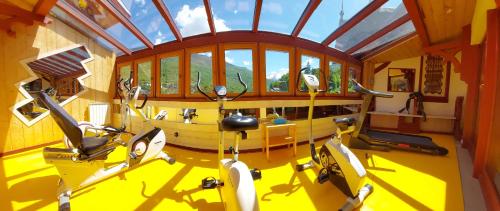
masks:
[[(297, 76), (298, 77), (298, 74), (299, 74), (299, 71), (300, 69), (302, 68), (302, 56), (309, 56), (309, 57), (316, 57), (316, 58), (319, 58), (319, 71), (320, 71), (320, 75), (319, 75), (319, 89), (320, 90), (325, 90), (326, 86), (325, 86), (325, 80), (324, 78), (321, 78), (321, 76), (325, 76), (325, 56), (322, 54), (322, 53), (318, 53), (318, 52), (314, 52), (314, 51), (310, 51), (310, 50), (306, 50), (306, 49), (302, 49), (302, 48), (297, 48), (296, 49), (296, 67), (295, 67), (295, 75), (294, 76)], [(297, 79), (295, 78), (295, 82), (297, 82)], [(297, 84), (295, 84), (295, 86), (297, 86)], [(300, 92), (298, 87), (294, 87), (295, 88), (295, 96), (308, 96), (309, 94), (307, 92)], [(318, 93), (317, 96), (323, 96), (324, 93), (320, 92)]]

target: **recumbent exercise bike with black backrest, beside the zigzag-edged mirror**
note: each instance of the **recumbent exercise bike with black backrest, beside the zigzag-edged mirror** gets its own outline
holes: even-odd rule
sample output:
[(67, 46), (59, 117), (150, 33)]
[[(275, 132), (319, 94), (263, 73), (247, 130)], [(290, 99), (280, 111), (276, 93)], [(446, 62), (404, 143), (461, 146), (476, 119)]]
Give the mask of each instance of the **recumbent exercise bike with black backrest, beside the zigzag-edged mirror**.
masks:
[[(132, 97), (128, 101), (127, 109), (130, 109), (143, 118), (144, 123), (149, 123), (142, 112), (147, 102), (147, 96), (141, 106), (136, 106), (141, 87), (131, 88), (131, 79), (124, 83), (127, 91), (126, 97)], [(165, 133), (162, 129), (153, 127), (150, 123), (143, 127), (143, 131), (134, 135), (128, 142), (114, 139), (115, 132), (123, 132), (124, 128), (103, 127), (109, 136), (84, 137), (78, 123), (57, 102), (52, 100), (47, 93), (39, 92), (39, 100), (50, 110), (50, 114), (68, 137), (71, 145), (66, 148), (46, 147), (43, 156), (47, 163), (53, 164), (60, 175), (57, 197), (59, 210), (70, 210), (70, 197), (75, 191), (88, 187), (94, 183), (114, 176), (124, 170), (137, 167), (152, 159), (163, 159), (169, 164), (175, 163), (175, 159), (163, 152), (166, 143)], [(127, 153), (125, 160), (117, 165), (106, 168), (104, 163), (108, 155), (116, 147), (125, 145)]]

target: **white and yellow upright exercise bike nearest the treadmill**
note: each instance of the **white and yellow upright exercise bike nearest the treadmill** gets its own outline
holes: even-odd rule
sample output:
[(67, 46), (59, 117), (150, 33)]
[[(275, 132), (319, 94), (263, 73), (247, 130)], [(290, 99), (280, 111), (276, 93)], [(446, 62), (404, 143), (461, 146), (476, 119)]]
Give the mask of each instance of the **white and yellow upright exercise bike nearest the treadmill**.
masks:
[[(314, 139), (312, 136), (312, 117), (314, 110), (314, 100), (319, 90), (320, 82), (318, 78), (305, 73), (309, 68), (303, 68), (299, 71), (297, 77), (297, 89), (301, 92), (308, 92), (310, 96), (308, 125), (309, 125), (309, 146), (312, 160), (305, 164), (297, 165), (297, 171), (304, 171), (312, 167), (321, 168), (318, 175), (318, 182), (323, 184), (330, 180), (337, 188), (339, 188), (349, 198), (344, 206), (339, 210), (352, 210), (360, 206), (364, 199), (373, 192), (373, 187), (365, 183), (366, 170), (343, 141), (348, 141), (351, 134), (355, 131), (354, 118), (334, 119), (337, 125), (336, 133), (328, 140), (320, 149), (319, 156), (316, 153)], [(300, 78), (304, 80), (308, 90), (300, 88)]]

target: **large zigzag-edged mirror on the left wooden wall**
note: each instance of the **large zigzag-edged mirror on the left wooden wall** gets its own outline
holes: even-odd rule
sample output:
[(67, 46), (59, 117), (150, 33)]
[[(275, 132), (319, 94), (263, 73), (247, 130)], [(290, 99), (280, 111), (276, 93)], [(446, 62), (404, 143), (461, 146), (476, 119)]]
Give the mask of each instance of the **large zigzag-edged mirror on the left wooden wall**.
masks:
[(90, 73), (83, 63), (90, 60), (87, 48), (77, 45), (21, 61), (31, 77), (17, 84), (27, 99), (12, 108), (14, 114), (28, 126), (47, 116), (48, 109), (36, 97), (40, 91), (50, 90), (61, 106), (75, 99), (85, 91), (82, 79)]

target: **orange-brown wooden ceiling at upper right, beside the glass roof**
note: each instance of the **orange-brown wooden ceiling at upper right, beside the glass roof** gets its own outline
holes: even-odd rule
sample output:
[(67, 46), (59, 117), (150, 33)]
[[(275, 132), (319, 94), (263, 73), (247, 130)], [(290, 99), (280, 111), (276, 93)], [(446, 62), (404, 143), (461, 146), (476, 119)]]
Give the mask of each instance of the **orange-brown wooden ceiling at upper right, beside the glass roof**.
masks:
[[(430, 45), (455, 40), (462, 28), (472, 21), (476, 0), (416, 0)], [(424, 46), (419, 37), (364, 58), (374, 63), (394, 61), (423, 55)]]

